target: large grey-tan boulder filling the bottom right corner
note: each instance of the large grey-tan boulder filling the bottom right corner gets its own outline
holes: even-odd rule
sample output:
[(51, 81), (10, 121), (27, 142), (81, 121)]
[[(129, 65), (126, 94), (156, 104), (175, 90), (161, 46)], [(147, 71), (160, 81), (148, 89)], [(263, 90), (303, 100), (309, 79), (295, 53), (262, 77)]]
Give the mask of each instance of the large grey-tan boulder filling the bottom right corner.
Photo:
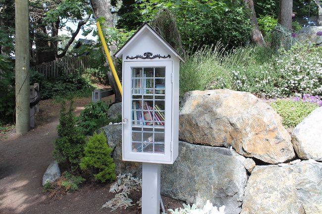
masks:
[(322, 214), (322, 163), (256, 166), (241, 214)]

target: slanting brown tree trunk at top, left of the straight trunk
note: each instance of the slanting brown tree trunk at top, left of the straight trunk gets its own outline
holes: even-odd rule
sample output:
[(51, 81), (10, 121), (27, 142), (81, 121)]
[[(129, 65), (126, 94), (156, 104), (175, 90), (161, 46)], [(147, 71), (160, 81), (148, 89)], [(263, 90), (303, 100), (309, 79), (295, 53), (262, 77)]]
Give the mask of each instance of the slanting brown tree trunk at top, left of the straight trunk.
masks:
[(254, 1), (253, 0), (245, 0), (246, 7), (249, 8), (252, 12), (251, 14), (251, 22), (254, 26), (254, 30), (252, 31), (252, 41), (257, 45), (264, 46), (265, 40), (260, 31), (260, 27), (258, 26), (256, 12), (254, 8)]

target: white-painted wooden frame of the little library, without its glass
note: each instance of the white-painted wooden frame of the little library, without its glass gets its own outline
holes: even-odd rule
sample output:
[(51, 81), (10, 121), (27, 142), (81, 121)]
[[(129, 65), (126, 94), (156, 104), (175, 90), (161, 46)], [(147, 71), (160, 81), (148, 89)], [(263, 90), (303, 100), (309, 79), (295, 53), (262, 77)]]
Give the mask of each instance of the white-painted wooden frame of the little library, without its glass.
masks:
[[(170, 58), (154, 58), (154, 59), (142, 59), (129, 57), (135, 57), (141, 55), (144, 57), (144, 53), (151, 52), (152, 56), (170, 55)], [(115, 54), (116, 57), (122, 58), (122, 118), (127, 119), (127, 123), (122, 125), (122, 160), (145, 162), (145, 163), (160, 163), (160, 164), (173, 164), (178, 156), (178, 124), (179, 124), (179, 63), (183, 59), (178, 53), (166, 43), (158, 33), (156, 33), (149, 25), (143, 25), (137, 33)], [(165, 67), (165, 126), (164, 126), (164, 154), (155, 152), (155, 144), (153, 147), (154, 153), (141, 152), (146, 145), (146, 141), (142, 137), (141, 140), (137, 139), (134, 142), (135, 148), (132, 151), (132, 127), (138, 127), (138, 122), (132, 125), (132, 105), (134, 102), (144, 100), (132, 96), (132, 68), (157, 68)], [(150, 78), (150, 77), (149, 77)], [(136, 81), (137, 78), (134, 78)], [(156, 79), (154, 77), (154, 79)], [(145, 85), (142, 78), (141, 85)], [(137, 87), (136, 87), (137, 88)], [(154, 101), (155, 103), (155, 101)], [(133, 115), (133, 120), (139, 116)], [(150, 128), (150, 126), (147, 126)], [(144, 128), (141, 126), (141, 128)], [(140, 133), (139, 128), (135, 132)], [(141, 131), (142, 133), (142, 131)], [(152, 131), (153, 139), (155, 137), (155, 131)], [(138, 135), (139, 136), (139, 135)], [(150, 140), (147, 140), (151, 142)], [(140, 142), (142, 146), (140, 147)], [(154, 141), (152, 141), (154, 142)]]

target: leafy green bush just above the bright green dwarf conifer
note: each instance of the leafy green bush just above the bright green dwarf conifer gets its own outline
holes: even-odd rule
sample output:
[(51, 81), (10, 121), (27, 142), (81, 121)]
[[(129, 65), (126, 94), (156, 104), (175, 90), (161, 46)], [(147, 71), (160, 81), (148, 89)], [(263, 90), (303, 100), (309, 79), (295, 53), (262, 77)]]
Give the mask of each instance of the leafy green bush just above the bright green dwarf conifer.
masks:
[(95, 130), (107, 125), (107, 110), (107, 104), (102, 101), (88, 104), (78, 118), (78, 126), (83, 133), (92, 135)]

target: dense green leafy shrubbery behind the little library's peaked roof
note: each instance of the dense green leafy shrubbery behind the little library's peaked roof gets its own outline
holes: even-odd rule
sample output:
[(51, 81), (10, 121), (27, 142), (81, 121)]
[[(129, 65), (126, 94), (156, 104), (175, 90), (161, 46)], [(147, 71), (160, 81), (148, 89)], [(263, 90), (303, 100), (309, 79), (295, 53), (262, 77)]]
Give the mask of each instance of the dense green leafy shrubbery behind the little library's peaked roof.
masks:
[[(132, 20), (149, 22), (160, 8), (168, 8), (177, 19), (180, 36), (186, 49), (190, 45), (211, 45), (221, 41), (224, 45), (239, 46), (248, 42), (252, 31), (249, 14), (243, 1), (228, 3), (224, 0), (140, 0), (131, 7), (132, 12), (121, 17), (119, 27), (128, 26)], [(125, 23), (126, 22), (126, 23)], [(124, 25), (121, 25), (124, 23)]]

